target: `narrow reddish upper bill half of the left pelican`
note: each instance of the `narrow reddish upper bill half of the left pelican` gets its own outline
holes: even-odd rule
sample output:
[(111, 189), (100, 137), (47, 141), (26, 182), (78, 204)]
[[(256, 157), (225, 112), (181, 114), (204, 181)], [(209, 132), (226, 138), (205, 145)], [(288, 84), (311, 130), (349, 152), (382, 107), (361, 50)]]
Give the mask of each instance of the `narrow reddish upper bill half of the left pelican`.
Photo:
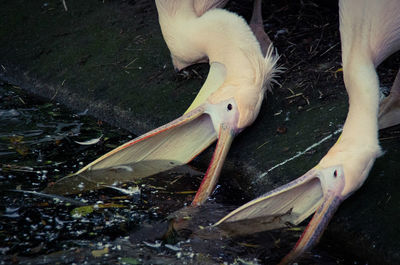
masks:
[(208, 166), (206, 175), (204, 176), (200, 188), (192, 202), (193, 206), (203, 204), (213, 192), (234, 137), (235, 129), (226, 124), (220, 125), (217, 146)]

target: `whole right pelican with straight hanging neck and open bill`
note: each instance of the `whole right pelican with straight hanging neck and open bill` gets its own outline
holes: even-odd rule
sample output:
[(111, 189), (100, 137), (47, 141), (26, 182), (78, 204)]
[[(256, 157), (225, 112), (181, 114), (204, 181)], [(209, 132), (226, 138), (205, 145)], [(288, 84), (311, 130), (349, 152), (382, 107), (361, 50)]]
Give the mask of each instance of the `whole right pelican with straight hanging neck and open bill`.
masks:
[(400, 123), (399, 74), (379, 114), (376, 67), (400, 49), (399, 0), (340, 0), (343, 75), (349, 110), (338, 141), (316, 167), (231, 212), (216, 225), (263, 222), (263, 230), (299, 224), (315, 212), (280, 264), (293, 262), (317, 243), (341, 202), (364, 183), (382, 152), (378, 128)]

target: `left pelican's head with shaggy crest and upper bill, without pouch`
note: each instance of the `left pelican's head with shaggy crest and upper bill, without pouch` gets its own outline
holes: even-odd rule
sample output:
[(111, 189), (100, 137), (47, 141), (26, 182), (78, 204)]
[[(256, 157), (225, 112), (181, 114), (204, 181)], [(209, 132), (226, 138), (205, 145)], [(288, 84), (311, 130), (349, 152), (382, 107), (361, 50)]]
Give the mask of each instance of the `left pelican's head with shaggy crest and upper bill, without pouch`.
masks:
[[(242, 79), (235, 80), (235, 82), (226, 81), (226, 77), (225, 82), (220, 87), (208, 91), (209, 94), (205, 93), (208, 98), (201, 106), (204, 106), (204, 112), (209, 115), (212, 121), (218, 142), (206, 176), (193, 200), (193, 205), (202, 204), (211, 194), (234, 137), (256, 119), (265, 89), (269, 88), (270, 82), (277, 72), (276, 61), (277, 57), (272, 55), (271, 45), (268, 56), (262, 58), (262, 64), (259, 64), (262, 67), (257, 68), (256, 72), (260, 73), (259, 77), (252, 78), (251, 81)], [(202, 92), (205, 91), (200, 91), (198, 97), (205, 96)], [(195, 108), (197, 102), (202, 102), (202, 100), (196, 98), (189, 110)]]

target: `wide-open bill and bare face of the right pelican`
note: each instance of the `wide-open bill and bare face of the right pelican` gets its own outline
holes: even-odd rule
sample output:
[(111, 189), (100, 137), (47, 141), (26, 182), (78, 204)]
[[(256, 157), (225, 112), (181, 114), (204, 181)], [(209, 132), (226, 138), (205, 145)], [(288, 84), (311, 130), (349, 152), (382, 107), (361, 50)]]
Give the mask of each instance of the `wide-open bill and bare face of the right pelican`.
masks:
[[(345, 199), (342, 166), (314, 168), (231, 212), (215, 225), (224, 230), (254, 233), (297, 225), (315, 212), (292, 251), (280, 264), (288, 264), (315, 245), (329, 220)], [(251, 224), (251, 226), (249, 226)]]

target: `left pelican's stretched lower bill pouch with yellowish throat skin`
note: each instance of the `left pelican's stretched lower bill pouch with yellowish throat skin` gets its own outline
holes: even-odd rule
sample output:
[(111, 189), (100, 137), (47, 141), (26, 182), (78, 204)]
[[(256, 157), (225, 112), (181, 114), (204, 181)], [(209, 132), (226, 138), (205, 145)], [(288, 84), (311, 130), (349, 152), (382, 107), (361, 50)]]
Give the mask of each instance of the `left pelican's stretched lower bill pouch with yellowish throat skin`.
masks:
[[(226, 68), (223, 64), (211, 63), (203, 87), (181, 117), (115, 148), (78, 172), (62, 178), (46, 189), (46, 192), (82, 192), (147, 177), (190, 162), (211, 145), (220, 133), (221, 121), (214, 122), (213, 117), (218, 117), (215, 114), (221, 113), (218, 109), (221, 106), (214, 106), (216, 113), (210, 111), (213, 106), (207, 103), (207, 98), (222, 85), (225, 76)], [(224, 131), (225, 129), (221, 129), (222, 137), (225, 136)], [(222, 145), (227, 146), (226, 151), (229, 149), (230, 140), (219, 142), (226, 142)], [(220, 146), (218, 144), (218, 148)], [(222, 158), (223, 161), (225, 156), (226, 154), (220, 155), (218, 160)], [(213, 175), (217, 172), (219, 169)], [(79, 186), (84, 186), (84, 190), (73, 189), (76, 183), (83, 183), (84, 185)]]

